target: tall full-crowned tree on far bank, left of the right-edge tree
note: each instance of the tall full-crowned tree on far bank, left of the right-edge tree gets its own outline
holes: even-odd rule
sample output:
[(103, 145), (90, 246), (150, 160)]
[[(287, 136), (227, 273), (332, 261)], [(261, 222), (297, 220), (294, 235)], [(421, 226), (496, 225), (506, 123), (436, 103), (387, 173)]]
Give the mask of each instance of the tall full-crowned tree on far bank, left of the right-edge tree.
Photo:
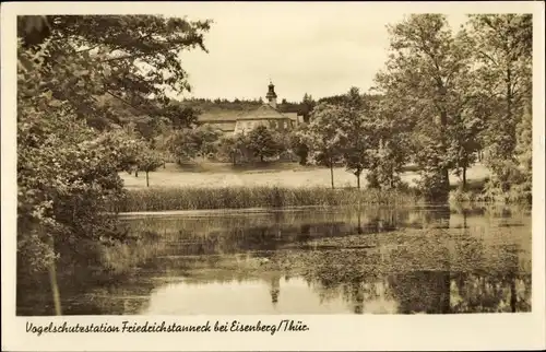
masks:
[(391, 52), (376, 82), (414, 131), (423, 188), (435, 200), (446, 200), (451, 164), (446, 131), (467, 104), (462, 89), (471, 63), (467, 40), (453, 36), (441, 14), (410, 15), (389, 33)]

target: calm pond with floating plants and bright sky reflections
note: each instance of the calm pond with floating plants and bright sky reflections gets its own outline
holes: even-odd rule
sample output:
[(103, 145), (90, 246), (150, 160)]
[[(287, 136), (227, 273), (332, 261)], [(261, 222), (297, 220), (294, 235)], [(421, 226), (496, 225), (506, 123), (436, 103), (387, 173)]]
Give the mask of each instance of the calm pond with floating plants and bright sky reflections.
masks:
[[(109, 280), (61, 278), (64, 315), (531, 310), (529, 210), (363, 207), (123, 222), (146, 239), (107, 254)], [(140, 259), (117, 274), (121, 255)], [(17, 315), (51, 315), (50, 296), (17, 294)]]

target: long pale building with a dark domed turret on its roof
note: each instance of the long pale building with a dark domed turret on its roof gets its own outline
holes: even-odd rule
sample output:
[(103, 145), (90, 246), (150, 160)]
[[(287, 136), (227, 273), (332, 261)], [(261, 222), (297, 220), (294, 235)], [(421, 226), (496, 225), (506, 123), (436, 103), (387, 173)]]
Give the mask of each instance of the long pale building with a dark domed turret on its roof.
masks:
[(254, 110), (215, 113), (214, 116), (204, 114), (200, 116), (199, 121), (217, 127), (224, 133), (234, 134), (248, 132), (258, 126), (285, 132), (302, 121), (302, 116), (298, 116), (297, 113), (281, 113), (277, 109), (275, 85), (271, 82), (265, 98), (266, 103)]

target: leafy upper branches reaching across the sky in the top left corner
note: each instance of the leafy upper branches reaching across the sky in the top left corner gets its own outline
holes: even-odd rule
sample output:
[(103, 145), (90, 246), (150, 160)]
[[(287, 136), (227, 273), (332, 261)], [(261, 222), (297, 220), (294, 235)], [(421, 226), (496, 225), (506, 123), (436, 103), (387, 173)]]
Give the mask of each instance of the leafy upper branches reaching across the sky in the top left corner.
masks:
[[(56, 98), (72, 104), (78, 116), (98, 129), (108, 128), (116, 120), (116, 112), (98, 102), (97, 97), (104, 95), (143, 115), (163, 116), (169, 101), (166, 87), (171, 93), (190, 90), (178, 54), (195, 47), (206, 51), (203, 38), (211, 24), (210, 21), (190, 22), (156, 15), (51, 15), (41, 19), (49, 28), (45, 38), (46, 66), (62, 66), (73, 60), (93, 62), (66, 81), (57, 78), (48, 87)], [(19, 33), (27, 45), (28, 36), (23, 34), (28, 21), (27, 16), (17, 17)], [(64, 89), (64, 85), (72, 87), (76, 77), (85, 79), (79, 83), (85, 89)], [(92, 81), (96, 84), (88, 84)], [(74, 93), (82, 91), (84, 93)]]

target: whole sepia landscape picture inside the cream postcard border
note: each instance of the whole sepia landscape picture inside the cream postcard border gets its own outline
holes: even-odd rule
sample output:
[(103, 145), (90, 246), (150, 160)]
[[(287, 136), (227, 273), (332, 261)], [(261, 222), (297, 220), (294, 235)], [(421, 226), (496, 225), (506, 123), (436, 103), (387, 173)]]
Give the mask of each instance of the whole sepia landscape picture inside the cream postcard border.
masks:
[(544, 4), (163, 4), (15, 16), (16, 317), (544, 308)]

